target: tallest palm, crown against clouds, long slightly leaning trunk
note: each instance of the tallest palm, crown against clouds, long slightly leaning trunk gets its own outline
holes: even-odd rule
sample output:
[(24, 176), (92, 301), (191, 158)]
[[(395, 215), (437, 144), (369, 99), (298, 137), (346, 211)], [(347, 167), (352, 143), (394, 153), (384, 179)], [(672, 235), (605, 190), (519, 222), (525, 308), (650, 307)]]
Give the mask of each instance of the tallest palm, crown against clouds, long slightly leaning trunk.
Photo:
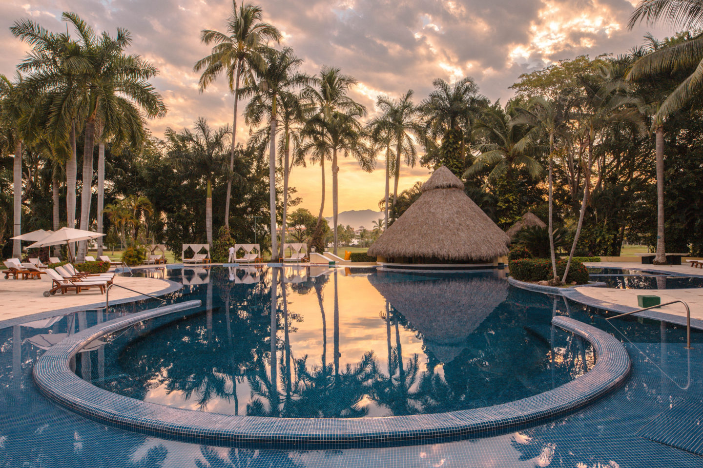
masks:
[(240, 79), (244, 78), (245, 86), (254, 83), (254, 70), (265, 69), (266, 62), (262, 53), (269, 49), (268, 41), (280, 41), (281, 35), (275, 26), (262, 21), (262, 8), (251, 4), (240, 4), (232, 1), (232, 11), (227, 18), (226, 32), (202, 29), (200, 41), (203, 44), (214, 44), (207, 57), (198, 60), (193, 67), (194, 72), (200, 72), (198, 87), (200, 92), (212, 84), (221, 72), (227, 76), (229, 91), (234, 95), (234, 117), (232, 122), (232, 145), (229, 154), (229, 173), (227, 194), (224, 202), (224, 225), (229, 227), (229, 202), (232, 194), (232, 175), (234, 171), (234, 155), (237, 133), (237, 104), (239, 102)]

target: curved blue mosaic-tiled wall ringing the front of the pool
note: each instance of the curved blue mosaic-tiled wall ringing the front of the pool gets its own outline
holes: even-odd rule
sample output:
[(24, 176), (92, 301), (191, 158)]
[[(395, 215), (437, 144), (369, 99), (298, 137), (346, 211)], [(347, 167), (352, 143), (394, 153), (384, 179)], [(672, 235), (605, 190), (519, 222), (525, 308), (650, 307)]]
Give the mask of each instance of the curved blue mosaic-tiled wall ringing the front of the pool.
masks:
[(360, 448), (493, 435), (579, 410), (619, 387), (631, 363), (612, 335), (565, 316), (553, 325), (584, 337), (596, 363), (585, 375), (548, 392), (496, 406), (449, 413), (372, 419), (229, 416), (138, 401), (99, 389), (70, 370), (82, 347), (147, 319), (198, 307), (199, 301), (150, 309), (83, 330), (45, 352), (34, 366), (37, 387), (52, 401), (91, 420), (165, 439), (217, 446)]

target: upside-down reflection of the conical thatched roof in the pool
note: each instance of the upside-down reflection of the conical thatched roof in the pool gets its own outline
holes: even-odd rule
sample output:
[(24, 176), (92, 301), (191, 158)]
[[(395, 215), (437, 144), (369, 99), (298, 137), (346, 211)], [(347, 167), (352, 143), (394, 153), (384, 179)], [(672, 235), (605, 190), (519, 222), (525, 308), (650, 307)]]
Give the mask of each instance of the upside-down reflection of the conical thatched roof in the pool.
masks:
[(444, 363), (461, 352), (466, 337), (508, 297), (508, 281), (485, 274), (378, 272), (368, 281)]

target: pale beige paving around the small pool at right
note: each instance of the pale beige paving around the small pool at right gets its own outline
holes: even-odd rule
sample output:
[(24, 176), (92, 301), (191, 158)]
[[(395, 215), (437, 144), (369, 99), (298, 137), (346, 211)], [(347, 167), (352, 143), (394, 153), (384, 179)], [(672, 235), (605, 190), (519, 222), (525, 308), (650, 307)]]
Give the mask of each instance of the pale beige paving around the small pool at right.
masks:
[[(661, 272), (672, 272), (676, 274), (688, 274), (695, 276), (703, 276), (703, 270), (692, 268), (689, 265), (641, 265), (640, 263), (630, 262), (597, 262), (586, 264), (587, 267), (611, 267), (624, 269), (649, 269)], [(692, 319), (703, 320), (703, 288), (691, 289), (615, 289), (615, 288), (590, 288), (581, 286), (577, 289), (579, 293), (591, 297), (596, 301), (601, 301), (598, 307), (608, 308), (612, 306), (626, 306), (633, 309), (639, 309), (637, 304), (638, 295), (658, 295), (662, 298), (662, 303), (673, 300), (683, 300), (688, 303), (691, 310)], [(659, 309), (654, 309), (657, 312), (664, 312), (680, 317), (685, 317), (686, 312), (682, 304), (673, 304)]]

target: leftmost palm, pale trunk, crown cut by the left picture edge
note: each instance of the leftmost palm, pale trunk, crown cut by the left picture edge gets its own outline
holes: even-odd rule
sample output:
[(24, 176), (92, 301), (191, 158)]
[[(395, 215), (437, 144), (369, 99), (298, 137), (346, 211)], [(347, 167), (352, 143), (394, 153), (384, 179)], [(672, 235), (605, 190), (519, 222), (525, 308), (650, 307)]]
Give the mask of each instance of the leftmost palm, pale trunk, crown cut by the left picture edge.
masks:
[[(10, 81), (0, 74), (0, 151), (15, 153), (13, 159), (13, 235), (22, 234), (22, 140), (27, 134), (27, 128), (22, 125), (25, 119), (26, 103), (22, 76), (18, 74), (15, 81)], [(15, 239), (12, 256), (22, 256), (22, 241)]]

